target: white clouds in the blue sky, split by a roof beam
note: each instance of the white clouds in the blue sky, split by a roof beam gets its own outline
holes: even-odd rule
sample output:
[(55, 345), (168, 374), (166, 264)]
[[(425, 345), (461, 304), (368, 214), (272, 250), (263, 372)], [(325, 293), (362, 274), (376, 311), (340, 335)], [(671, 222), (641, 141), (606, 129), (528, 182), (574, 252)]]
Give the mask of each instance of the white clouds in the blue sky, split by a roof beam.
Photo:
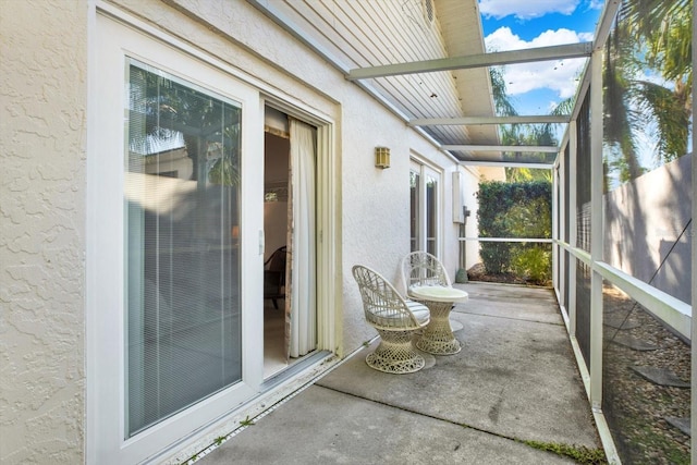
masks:
[[(582, 35), (570, 29), (546, 30), (533, 40), (523, 40), (509, 27), (501, 27), (487, 37), (488, 51), (524, 50), (584, 41)], [(580, 74), (585, 59), (565, 59), (533, 63), (511, 64), (503, 69), (510, 95), (525, 94), (535, 89), (552, 89), (560, 99), (576, 93), (576, 78)]]

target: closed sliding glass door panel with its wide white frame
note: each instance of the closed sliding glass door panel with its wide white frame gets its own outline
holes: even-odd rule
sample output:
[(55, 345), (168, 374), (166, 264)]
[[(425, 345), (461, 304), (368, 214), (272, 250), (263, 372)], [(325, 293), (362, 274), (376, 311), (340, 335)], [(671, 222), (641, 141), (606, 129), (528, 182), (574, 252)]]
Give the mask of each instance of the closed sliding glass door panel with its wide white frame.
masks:
[(264, 381), (261, 100), (220, 63), (97, 23), (87, 462), (142, 463)]

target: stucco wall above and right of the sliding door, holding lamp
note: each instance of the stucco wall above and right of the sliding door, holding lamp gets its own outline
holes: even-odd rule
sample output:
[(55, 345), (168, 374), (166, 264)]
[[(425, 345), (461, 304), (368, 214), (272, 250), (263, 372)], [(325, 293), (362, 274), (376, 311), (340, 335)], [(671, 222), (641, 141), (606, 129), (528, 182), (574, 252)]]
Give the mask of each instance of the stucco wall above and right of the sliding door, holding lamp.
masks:
[[(334, 150), (341, 163), (340, 270), (343, 276), (343, 352), (348, 353), (376, 332), (365, 323), (354, 264), (377, 268), (399, 281), (398, 266), (409, 250), (408, 170), (413, 152), (443, 170), (443, 255), (456, 265), (457, 244), (450, 218), (452, 160), (408, 129), (357, 85), (301, 45), (246, 1), (113, 0), (158, 27), (201, 47), (233, 66), (332, 118)], [(178, 10), (178, 11), (175, 11)], [(185, 21), (185, 17), (195, 21)], [(212, 30), (212, 32), (211, 32)], [(377, 146), (390, 147), (392, 166), (374, 166)], [(450, 261), (450, 258), (449, 258)], [(338, 277), (339, 278), (339, 277)]]

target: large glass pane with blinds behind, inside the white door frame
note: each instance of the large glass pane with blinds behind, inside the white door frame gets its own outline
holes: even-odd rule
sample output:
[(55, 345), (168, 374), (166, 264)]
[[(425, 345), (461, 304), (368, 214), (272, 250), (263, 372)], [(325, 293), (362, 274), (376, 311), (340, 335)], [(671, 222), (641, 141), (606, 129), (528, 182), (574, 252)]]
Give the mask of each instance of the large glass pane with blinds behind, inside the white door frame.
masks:
[(239, 107), (129, 68), (126, 431), (241, 379)]

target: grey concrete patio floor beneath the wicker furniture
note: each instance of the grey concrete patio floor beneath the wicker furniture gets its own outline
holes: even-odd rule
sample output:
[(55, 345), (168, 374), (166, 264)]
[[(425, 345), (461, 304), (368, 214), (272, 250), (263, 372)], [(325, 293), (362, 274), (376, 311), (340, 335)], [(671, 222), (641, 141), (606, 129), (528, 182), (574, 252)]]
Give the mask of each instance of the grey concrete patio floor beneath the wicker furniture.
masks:
[(601, 448), (551, 290), (455, 284), (462, 351), (411, 375), (363, 348), (209, 452), (217, 464), (574, 463), (521, 441)]

